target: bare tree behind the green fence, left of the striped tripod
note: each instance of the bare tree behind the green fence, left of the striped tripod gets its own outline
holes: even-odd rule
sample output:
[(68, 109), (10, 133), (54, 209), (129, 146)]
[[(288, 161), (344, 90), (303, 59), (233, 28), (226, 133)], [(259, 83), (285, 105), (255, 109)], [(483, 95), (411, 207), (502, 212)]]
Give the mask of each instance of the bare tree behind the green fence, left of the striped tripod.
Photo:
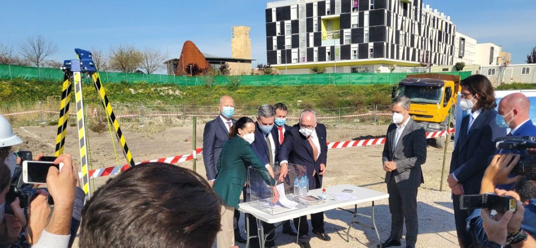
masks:
[(19, 44), (20, 54), (27, 61), (39, 67), (46, 57), (58, 51), (53, 42), (46, 41), (43, 36), (29, 36)]

